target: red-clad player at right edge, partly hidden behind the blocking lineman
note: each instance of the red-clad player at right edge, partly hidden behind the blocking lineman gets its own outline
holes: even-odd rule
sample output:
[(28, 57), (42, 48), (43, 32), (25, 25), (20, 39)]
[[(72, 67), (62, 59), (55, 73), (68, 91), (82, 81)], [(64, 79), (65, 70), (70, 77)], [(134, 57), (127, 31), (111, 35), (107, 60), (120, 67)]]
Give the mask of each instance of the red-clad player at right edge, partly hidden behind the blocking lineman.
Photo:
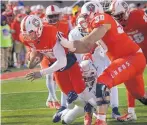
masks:
[[(130, 10), (125, 1), (112, 2), (111, 14), (123, 26), (128, 36), (137, 43), (147, 60), (147, 12), (143, 9)], [(128, 92), (128, 113), (119, 118), (121, 121), (136, 120), (135, 98)]]

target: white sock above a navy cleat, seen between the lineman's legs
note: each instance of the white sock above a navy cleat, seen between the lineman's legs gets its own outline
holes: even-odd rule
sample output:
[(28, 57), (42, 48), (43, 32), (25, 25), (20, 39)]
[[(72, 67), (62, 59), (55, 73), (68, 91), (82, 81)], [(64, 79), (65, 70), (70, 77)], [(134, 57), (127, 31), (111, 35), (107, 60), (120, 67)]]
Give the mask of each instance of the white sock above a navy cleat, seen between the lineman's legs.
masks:
[(111, 88), (111, 96), (110, 96), (111, 107), (118, 107), (118, 88), (117, 86)]

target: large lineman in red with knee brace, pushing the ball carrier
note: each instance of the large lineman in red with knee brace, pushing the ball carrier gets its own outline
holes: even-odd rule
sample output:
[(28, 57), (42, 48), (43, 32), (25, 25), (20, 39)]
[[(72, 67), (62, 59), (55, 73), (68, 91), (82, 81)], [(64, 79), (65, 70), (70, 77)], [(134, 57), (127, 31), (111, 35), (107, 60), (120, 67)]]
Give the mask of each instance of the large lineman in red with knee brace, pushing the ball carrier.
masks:
[[(97, 104), (108, 104), (108, 89), (125, 82), (132, 96), (147, 105), (143, 81), (146, 60), (140, 47), (124, 33), (122, 26), (116, 20), (103, 12), (100, 4), (87, 2), (83, 5), (81, 13), (87, 14), (91, 33), (77, 41), (68, 41), (60, 33), (58, 38), (64, 47), (75, 53), (89, 52), (95, 46), (95, 42), (102, 39), (100, 44), (107, 51), (112, 63), (97, 79), (97, 83), (102, 88), (96, 93)], [(140, 63), (137, 62), (138, 60)], [(103, 116), (105, 117), (106, 114)], [(106, 122), (98, 118), (95, 124), (105, 125)]]

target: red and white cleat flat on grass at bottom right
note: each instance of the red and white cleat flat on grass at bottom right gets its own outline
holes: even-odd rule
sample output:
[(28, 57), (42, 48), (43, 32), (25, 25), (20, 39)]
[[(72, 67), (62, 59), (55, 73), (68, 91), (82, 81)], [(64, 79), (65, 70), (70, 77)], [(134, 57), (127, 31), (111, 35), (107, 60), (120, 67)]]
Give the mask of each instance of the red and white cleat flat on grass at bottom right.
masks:
[(137, 116), (135, 113), (127, 113), (124, 116), (118, 117), (117, 120), (120, 122), (134, 121), (137, 120)]

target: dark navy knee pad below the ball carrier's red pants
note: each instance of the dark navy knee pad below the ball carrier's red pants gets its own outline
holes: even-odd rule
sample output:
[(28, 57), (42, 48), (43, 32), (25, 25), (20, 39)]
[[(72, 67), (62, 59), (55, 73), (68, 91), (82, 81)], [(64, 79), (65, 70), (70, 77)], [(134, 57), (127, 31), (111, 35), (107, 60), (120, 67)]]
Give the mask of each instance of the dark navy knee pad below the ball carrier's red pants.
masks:
[(68, 94), (67, 94), (67, 103), (68, 104), (71, 104), (73, 101), (75, 101), (76, 99), (78, 98), (78, 95), (76, 92), (74, 91), (70, 91)]

